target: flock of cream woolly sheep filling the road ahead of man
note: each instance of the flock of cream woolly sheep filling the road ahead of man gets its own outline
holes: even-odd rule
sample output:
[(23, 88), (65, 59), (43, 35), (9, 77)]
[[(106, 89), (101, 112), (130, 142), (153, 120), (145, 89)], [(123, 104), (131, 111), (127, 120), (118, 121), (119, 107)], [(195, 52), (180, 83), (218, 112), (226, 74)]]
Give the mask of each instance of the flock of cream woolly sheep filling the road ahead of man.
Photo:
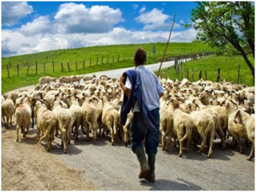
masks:
[[(184, 145), (185, 150), (190, 145), (200, 145), (200, 153), (209, 146), (207, 157), (210, 158), (213, 140), (218, 136), (223, 150), (226, 139), (232, 139), (232, 144), (243, 153), (241, 142), (245, 141), (246, 146), (251, 146), (247, 160), (254, 158), (254, 86), (204, 79), (197, 82), (159, 79), (165, 88), (160, 110), (162, 150), (169, 151), (173, 142), (182, 157)], [(32, 89), (2, 96), (2, 125), (8, 128), (15, 116), (18, 142), (19, 129), (26, 138), (30, 125), (34, 127), (36, 123), (37, 139), (47, 141), (48, 151), (60, 132), (63, 152), (67, 153), (71, 135), (79, 139), (79, 129), (86, 139), (91, 139), (92, 134), (93, 142), (110, 134), (112, 146), (124, 134), (128, 146), (132, 113), (128, 114), (125, 126), (120, 127), (124, 93), (119, 81), (106, 75), (96, 78), (88, 74), (39, 78), (39, 84)]]

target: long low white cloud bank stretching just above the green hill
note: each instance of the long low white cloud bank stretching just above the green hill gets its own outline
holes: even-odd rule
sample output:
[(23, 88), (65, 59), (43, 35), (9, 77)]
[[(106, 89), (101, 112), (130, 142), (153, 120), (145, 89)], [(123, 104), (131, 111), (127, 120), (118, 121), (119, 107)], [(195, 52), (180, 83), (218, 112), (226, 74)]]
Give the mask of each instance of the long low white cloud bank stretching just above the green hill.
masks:
[[(196, 35), (195, 30), (173, 32), (170, 42), (192, 42)], [(168, 38), (169, 31), (132, 31), (120, 27), (101, 34), (38, 34), (30, 37), (18, 31), (2, 30), (2, 56), (9, 56), (7, 51), (31, 54), (71, 47), (166, 42)]]

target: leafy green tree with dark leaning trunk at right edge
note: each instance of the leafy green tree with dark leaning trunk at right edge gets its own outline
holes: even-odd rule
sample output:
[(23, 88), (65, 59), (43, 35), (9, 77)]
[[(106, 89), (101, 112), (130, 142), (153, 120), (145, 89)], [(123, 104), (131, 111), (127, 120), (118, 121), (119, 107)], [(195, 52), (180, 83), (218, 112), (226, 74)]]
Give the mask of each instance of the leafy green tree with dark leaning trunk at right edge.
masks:
[(254, 77), (254, 2), (197, 2), (191, 12), (197, 39), (218, 52), (242, 55)]

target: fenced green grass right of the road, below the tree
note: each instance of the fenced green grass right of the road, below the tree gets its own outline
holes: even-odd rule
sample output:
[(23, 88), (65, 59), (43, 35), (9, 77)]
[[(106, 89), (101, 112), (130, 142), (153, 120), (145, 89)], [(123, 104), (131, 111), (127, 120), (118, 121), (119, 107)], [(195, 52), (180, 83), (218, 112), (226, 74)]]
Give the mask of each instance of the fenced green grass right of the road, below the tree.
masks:
[[(254, 58), (250, 58), (254, 63)], [(240, 77), (238, 79), (238, 68), (240, 66)], [(160, 76), (162, 78), (170, 78), (172, 80), (188, 78), (190, 82), (198, 81), (199, 73), (201, 71), (201, 78), (217, 82), (217, 70), (220, 69), (220, 79), (226, 82), (234, 82), (238, 84), (247, 84), (254, 86), (254, 78), (242, 57), (229, 58), (226, 56), (209, 56), (200, 58), (190, 62), (185, 62), (179, 65), (180, 72), (174, 69), (174, 66), (161, 70)], [(181, 74), (182, 70), (182, 74)], [(187, 76), (189, 71), (189, 76)], [(206, 71), (206, 75), (205, 75)]]

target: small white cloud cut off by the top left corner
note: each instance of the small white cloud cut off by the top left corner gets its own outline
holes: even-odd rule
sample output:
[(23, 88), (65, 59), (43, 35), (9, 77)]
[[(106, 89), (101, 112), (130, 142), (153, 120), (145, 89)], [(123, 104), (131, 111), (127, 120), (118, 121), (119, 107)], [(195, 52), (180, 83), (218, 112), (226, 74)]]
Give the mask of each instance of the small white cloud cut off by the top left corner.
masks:
[(32, 11), (26, 2), (2, 2), (2, 26), (13, 26)]

